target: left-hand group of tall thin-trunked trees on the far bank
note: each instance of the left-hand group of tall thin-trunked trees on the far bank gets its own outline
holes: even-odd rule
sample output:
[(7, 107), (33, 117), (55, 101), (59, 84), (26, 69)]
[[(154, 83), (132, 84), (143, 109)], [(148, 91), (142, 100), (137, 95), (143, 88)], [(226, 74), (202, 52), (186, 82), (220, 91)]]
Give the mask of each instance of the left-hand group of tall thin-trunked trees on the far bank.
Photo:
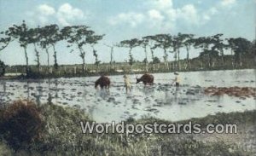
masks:
[(40, 54), (45, 51), (48, 57), (48, 72), (49, 72), (49, 50), (53, 51), (54, 67), (58, 69), (56, 44), (61, 41), (67, 42), (67, 47), (71, 49), (79, 49), (79, 57), (83, 61), (83, 72), (85, 71), (85, 54), (91, 50), (96, 57), (96, 64), (99, 64), (95, 45), (102, 40), (104, 35), (96, 35), (89, 26), (65, 26), (60, 29), (57, 25), (49, 25), (44, 27), (29, 28), (23, 20), (20, 26), (10, 26), (8, 30), (1, 32), (0, 51), (5, 49), (10, 42), (17, 41), (20, 47), (24, 50), (26, 58), (26, 73), (29, 73), (27, 47), (33, 46), (36, 55), (38, 72), (40, 72)]

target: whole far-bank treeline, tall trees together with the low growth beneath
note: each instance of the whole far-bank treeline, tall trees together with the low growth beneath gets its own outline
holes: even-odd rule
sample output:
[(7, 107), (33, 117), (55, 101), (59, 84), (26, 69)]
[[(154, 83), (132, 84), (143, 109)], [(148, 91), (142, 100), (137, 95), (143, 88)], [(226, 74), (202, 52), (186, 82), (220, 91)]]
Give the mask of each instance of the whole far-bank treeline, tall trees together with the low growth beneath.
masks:
[[(57, 25), (30, 28), (23, 21), (21, 25), (9, 26), (8, 30), (0, 33), (0, 52), (9, 46), (9, 43), (17, 41), (20, 48), (24, 49), (26, 58), (25, 71), (26, 75), (42, 74), (49, 75), (53, 73), (68, 74), (70, 70), (67, 67), (59, 66), (57, 60), (56, 44), (66, 41), (67, 48), (71, 51), (79, 49), (79, 57), (82, 59), (81, 64), (73, 66), (71, 71), (86, 75), (89, 72), (168, 72), (168, 71), (191, 71), (191, 70), (211, 70), (227, 68), (251, 68), (255, 66), (256, 42), (246, 38), (223, 38), (223, 34), (216, 34), (209, 37), (196, 37), (194, 34), (177, 33), (157, 34), (143, 38), (132, 38), (113, 45), (107, 45), (110, 50), (111, 61), (109, 64), (102, 64), (98, 60), (96, 44), (99, 43), (104, 35), (97, 35), (89, 26), (65, 26), (60, 28)], [(32, 46), (33, 51), (27, 51), (27, 47)], [(124, 63), (115, 63), (113, 61), (113, 48), (124, 47), (129, 49), (128, 59)], [(140, 47), (145, 59), (142, 62), (135, 61), (131, 51)], [(200, 55), (197, 58), (190, 59), (190, 49), (200, 49)], [(156, 50), (163, 51), (163, 62), (154, 55)], [(186, 49), (186, 50), (181, 50)], [(49, 52), (53, 52), (54, 64), (49, 64)], [(224, 50), (229, 50), (230, 55), (224, 55)], [(94, 65), (85, 64), (85, 52), (90, 52), (95, 56)], [(36, 56), (37, 66), (28, 64), (28, 53), (33, 52)], [(151, 61), (148, 61), (148, 52)], [(181, 60), (181, 53), (185, 52), (186, 58)], [(48, 56), (48, 65), (41, 66), (40, 55), (46, 53)], [(168, 61), (168, 54), (174, 55), (173, 61)], [(90, 66), (90, 67), (89, 67)], [(127, 69), (127, 66), (129, 69)], [(5, 65), (0, 61), (0, 75), (5, 72)], [(70, 66), (69, 66), (70, 67)], [(16, 66), (17, 72), (22, 72), (19, 66)], [(135, 69), (134, 69), (135, 68)], [(9, 68), (8, 71), (14, 69)], [(12, 71), (13, 72), (13, 71)]]

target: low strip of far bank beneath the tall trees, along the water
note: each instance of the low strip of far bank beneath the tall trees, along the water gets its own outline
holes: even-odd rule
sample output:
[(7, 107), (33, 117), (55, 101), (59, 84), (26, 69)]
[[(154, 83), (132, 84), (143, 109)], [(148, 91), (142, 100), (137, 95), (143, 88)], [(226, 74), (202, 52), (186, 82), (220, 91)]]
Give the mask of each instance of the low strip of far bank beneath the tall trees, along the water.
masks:
[[(238, 70), (238, 69), (253, 69), (255, 68), (255, 61), (252, 56), (247, 56), (242, 59), (241, 66), (235, 65), (233, 57), (226, 55), (224, 57), (225, 64), (218, 58), (214, 61), (214, 65), (209, 67), (206, 61), (201, 61), (199, 57), (190, 60), (190, 66), (187, 65), (186, 60), (180, 61), (180, 67), (177, 68), (176, 61), (169, 61), (167, 65), (163, 62), (160, 63), (148, 63), (148, 70), (143, 62), (135, 62), (131, 66), (125, 62), (116, 62), (113, 66), (109, 63), (102, 63), (99, 66), (95, 64), (87, 64), (86, 71), (83, 72), (83, 66), (77, 65), (60, 65), (58, 69), (54, 66), (41, 66), (38, 70), (37, 66), (29, 66), (30, 72), (26, 75), (26, 66), (8, 66), (6, 68), (7, 73), (12, 73), (13, 76), (3, 77), (1, 79), (9, 78), (73, 78), (73, 77), (90, 77), (99, 76), (101, 74), (106, 75), (123, 75), (126, 73), (141, 74), (145, 72), (157, 73), (157, 72), (195, 72), (195, 71), (214, 71), (214, 70)], [(16, 75), (17, 73), (17, 75)], [(23, 75), (20, 75), (23, 73)]]

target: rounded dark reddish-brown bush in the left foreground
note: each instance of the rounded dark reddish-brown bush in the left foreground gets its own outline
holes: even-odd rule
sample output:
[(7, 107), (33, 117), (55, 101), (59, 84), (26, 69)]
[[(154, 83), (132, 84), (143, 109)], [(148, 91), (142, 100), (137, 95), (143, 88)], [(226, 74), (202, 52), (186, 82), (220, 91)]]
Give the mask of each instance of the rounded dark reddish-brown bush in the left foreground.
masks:
[(0, 134), (14, 149), (38, 139), (44, 122), (32, 101), (15, 101), (0, 111)]

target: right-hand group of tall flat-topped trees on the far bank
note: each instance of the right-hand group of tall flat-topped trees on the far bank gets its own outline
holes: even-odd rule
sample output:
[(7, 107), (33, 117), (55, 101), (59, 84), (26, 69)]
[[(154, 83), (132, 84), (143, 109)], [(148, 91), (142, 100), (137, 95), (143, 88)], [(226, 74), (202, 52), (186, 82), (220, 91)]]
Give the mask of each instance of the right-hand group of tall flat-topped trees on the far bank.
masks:
[(177, 70), (181, 68), (181, 49), (185, 49), (187, 53), (185, 59), (187, 69), (191, 67), (189, 58), (191, 48), (200, 49), (199, 58), (201, 58), (201, 62), (206, 62), (209, 68), (214, 66), (214, 60), (217, 59), (220, 59), (222, 66), (225, 66), (225, 50), (230, 50), (232, 66), (234, 67), (241, 66), (241, 57), (243, 55), (253, 55), (253, 53), (255, 53), (255, 41), (252, 43), (246, 38), (223, 38), (223, 34), (199, 38), (195, 38), (194, 34), (183, 34), (180, 32), (174, 36), (171, 34), (157, 34), (154, 36), (124, 40), (119, 43), (119, 46), (129, 48), (129, 64), (131, 65), (131, 69), (135, 62), (131, 50), (136, 47), (143, 48), (145, 53), (145, 60), (143, 62), (145, 63), (146, 70), (148, 70), (148, 49), (151, 52), (153, 63), (156, 59), (154, 57), (155, 49), (163, 51), (163, 61), (166, 69), (169, 68), (167, 60), (168, 54), (173, 54)]

